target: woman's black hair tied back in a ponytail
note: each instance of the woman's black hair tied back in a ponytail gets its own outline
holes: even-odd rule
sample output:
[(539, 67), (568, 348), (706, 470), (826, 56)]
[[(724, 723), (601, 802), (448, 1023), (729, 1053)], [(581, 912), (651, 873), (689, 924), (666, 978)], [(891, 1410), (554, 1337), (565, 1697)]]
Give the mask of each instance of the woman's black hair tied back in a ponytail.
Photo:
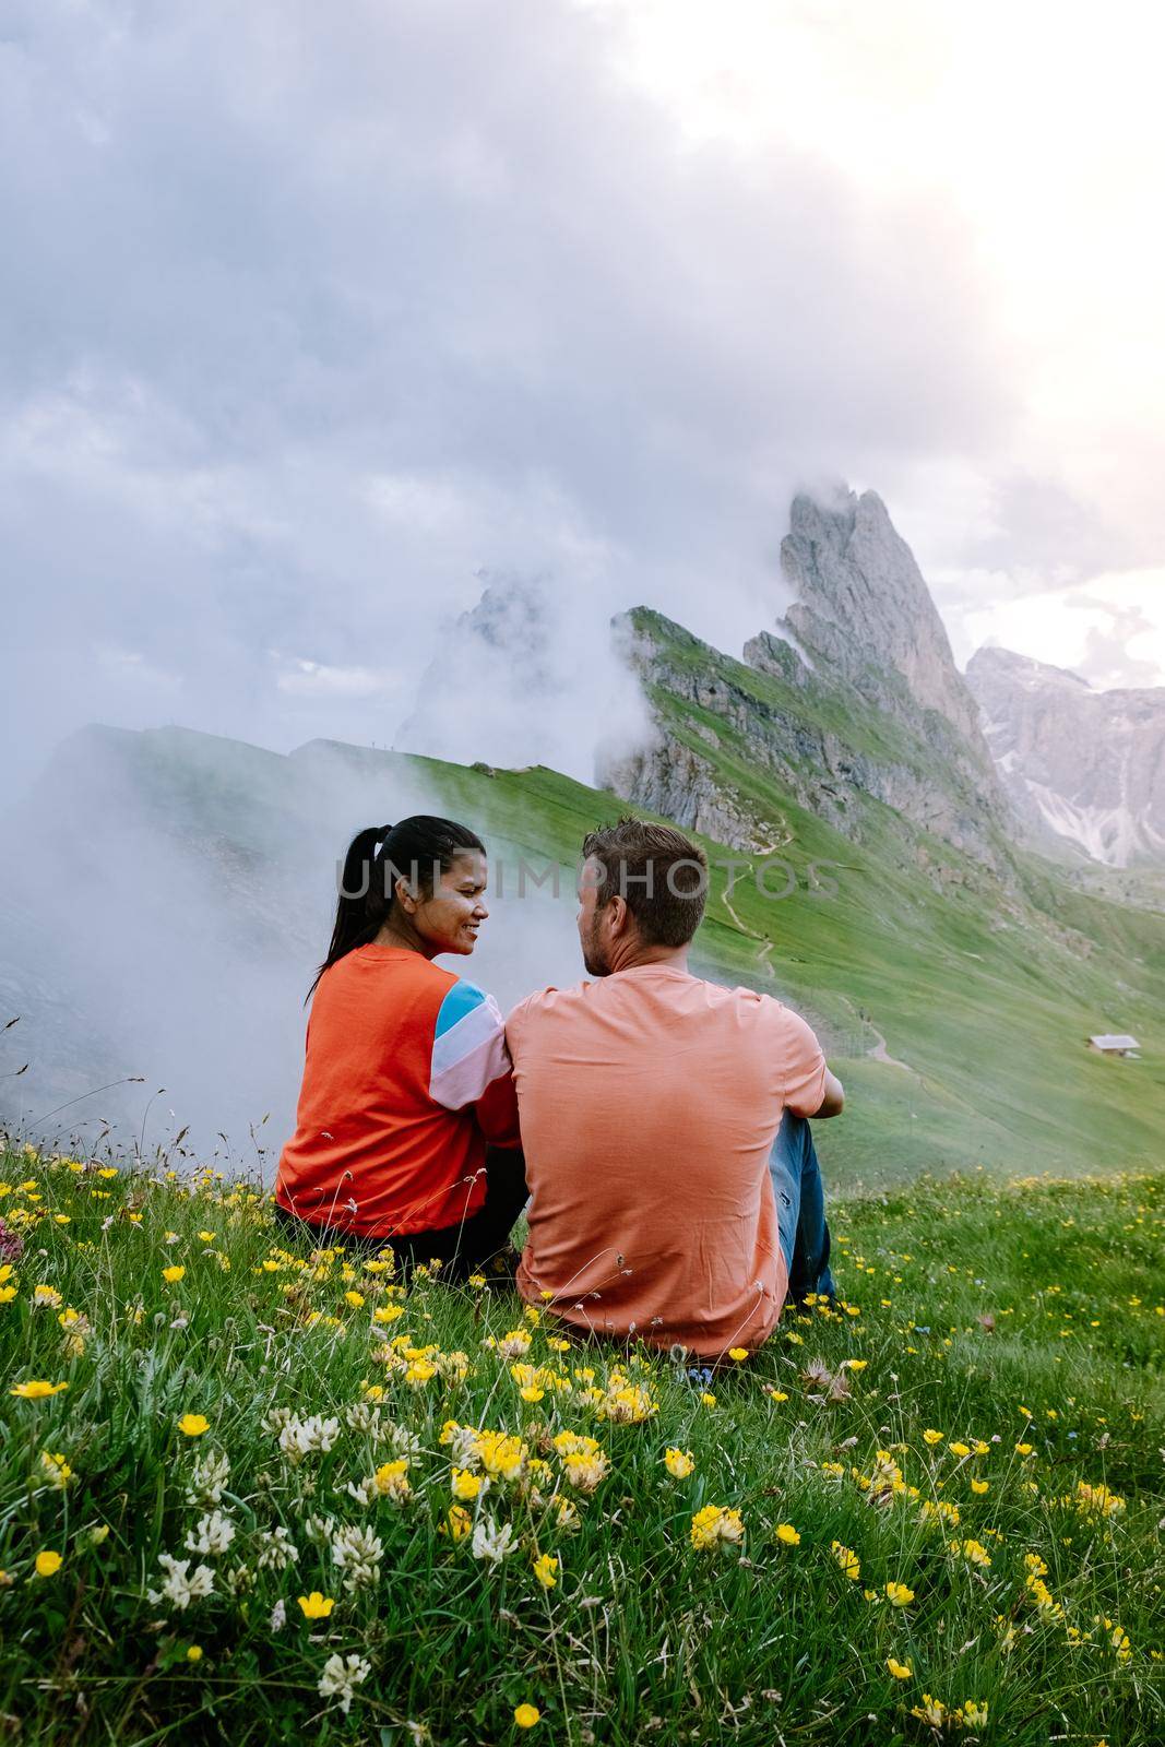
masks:
[(400, 825), (370, 825), (356, 832), (344, 856), (332, 942), (307, 999), (337, 959), (376, 940), (393, 908), (398, 879), (407, 879), (430, 898), (440, 874), (465, 849), (484, 853), (486, 846), (468, 825), (437, 819), (428, 812), (414, 812)]

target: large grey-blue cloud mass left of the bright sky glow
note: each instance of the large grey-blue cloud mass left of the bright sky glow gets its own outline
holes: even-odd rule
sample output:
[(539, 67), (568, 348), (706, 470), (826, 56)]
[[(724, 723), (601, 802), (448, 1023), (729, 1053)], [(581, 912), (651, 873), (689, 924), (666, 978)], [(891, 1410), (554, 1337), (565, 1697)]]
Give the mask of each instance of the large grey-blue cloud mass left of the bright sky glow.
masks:
[(9, 786), (94, 718), (384, 744), (480, 571), (583, 667), (638, 601), (735, 650), (803, 479), (990, 445), (943, 203), (685, 140), (615, 51), (564, 0), (10, 9)]

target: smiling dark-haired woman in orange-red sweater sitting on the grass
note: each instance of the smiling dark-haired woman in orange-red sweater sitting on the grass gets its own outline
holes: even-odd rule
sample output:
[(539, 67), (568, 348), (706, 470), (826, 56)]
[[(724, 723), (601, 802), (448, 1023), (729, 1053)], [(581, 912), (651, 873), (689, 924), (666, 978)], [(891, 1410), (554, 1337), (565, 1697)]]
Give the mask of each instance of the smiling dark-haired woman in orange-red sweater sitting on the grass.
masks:
[(323, 1244), (391, 1246), (405, 1272), (440, 1258), (465, 1279), (526, 1202), (498, 1003), (433, 964), (473, 950), (484, 893), (486, 847), (465, 825), (416, 814), (360, 832), (309, 991), (276, 1218)]

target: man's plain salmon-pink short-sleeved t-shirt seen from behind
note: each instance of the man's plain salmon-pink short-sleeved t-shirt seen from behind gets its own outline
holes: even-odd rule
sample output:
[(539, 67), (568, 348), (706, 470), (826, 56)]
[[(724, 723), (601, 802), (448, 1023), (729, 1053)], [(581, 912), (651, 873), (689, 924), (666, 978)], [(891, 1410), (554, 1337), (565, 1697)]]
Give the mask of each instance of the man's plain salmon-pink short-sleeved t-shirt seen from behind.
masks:
[(786, 1109), (824, 1099), (805, 1020), (638, 964), (529, 996), (507, 1041), (533, 1197), (522, 1296), (702, 1357), (758, 1347), (788, 1289), (769, 1153)]

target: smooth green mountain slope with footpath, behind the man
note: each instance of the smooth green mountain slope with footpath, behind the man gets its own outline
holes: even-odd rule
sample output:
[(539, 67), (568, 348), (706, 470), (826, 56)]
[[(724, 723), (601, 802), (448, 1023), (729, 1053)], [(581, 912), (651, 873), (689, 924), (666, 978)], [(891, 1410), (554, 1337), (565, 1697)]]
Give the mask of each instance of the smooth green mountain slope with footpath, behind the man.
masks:
[[(742, 779), (728, 756), (721, 769)], [(491, 819), (496, 846), (545, 846), (564, 861), (596, 818), (622, 807), (541, 769), (430, 774), (454, 811)], [(742, 870), (728, 896), (723, 863), (741, 854), (702, 839), (721, 867), (697, 968), (777, 994), (819, 1027), (851, 1094), (847, 1115), (821, 1132), (835, 1172), (873, 1184), (920, 1169), (1090, 1170), (1160, 1158), (1165, 919), (1078, 894), (1041, 870), (1074, 933), (1034, 907), (999, 928), (997, 893), (992, 901), (969, 880), (936, 891), (903, 870), (896, 816), (858, 847), (776, 784), (755, 774), (751, 784), (791, 837), (782, 860), (795, 889), (774, 901)], [(819, 868), (819, 884), (814, 863), (840, 865)], [(776, 865), (767, 880), (772, 891), (793, 884)], [(1142, 1060), (1085, 1048), (1118, 1024), (1141, 1039)]]

